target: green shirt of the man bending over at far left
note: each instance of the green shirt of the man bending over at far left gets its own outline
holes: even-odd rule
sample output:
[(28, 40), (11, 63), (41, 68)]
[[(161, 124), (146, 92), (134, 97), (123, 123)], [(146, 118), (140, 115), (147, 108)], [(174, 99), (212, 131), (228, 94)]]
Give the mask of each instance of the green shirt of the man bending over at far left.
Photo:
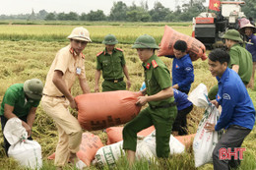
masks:
[(25, 96), (24, 84), (11, 85), (5, 92), (0, 116), (4, 115), (5, 104), (14, 107), (13, 113), (17, 117), (23, 117), (30, 113), (32, 107), (37, 107), (40, 100), (27, 99)]

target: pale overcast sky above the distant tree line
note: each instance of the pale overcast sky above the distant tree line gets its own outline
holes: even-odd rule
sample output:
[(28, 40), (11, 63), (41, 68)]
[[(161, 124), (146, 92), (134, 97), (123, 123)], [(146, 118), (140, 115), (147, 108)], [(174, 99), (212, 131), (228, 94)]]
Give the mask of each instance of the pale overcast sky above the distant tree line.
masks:
[[(0, 0), (0, 15), (31, 14), (32, 9), (34, 13), (38, 13), (40, 10), (46, 10), (48, 13), (76, 12), (78, 14), (89, 13), (91, 10), (102, 10), (105, 15), (108, 15), (113, 2), (117, 1), (120, 0)], [(127, 6), (131, 6), (133, 2), (137, 6), (141, 4), (141, 1), (146, 2), (146, 0), (121, 1)], [(175, 2), (179, 3), (179, 5), (189, 2), (189, 0), (148, 0), (150, 9), (154, 7), (156, 1), (170, 10), (174, 10), (175, 5), (178, 5)]]

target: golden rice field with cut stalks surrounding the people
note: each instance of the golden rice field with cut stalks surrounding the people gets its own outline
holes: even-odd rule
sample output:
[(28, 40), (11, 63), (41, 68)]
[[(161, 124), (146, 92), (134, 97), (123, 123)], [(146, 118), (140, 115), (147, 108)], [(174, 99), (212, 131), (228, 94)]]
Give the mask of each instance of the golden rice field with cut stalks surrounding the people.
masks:
[[(28, 79), (37, 78), (45, 83), (46, 74), (49, 70), (51, 62), (53, 61), (56, 52), (66, 46), (69, 41), (66, 39), (67, 35), (75, 26), (0, 26), (0, 101), (2, 101), (5, 90), (8, 86), (18, 83), (24, 83)], [(101, 42), (104, 35), (113, 33), (119, 40), (116, 47), (124, 50), (124, 55), (132, 82), (132, 91), (138, 91), (142, 82), (144, 81), (144, 72), (141, 67), (141, 61), (137, 56), (135, 49), (131, 48), (131, 43), (141, 34), (151, 34), (156, 37), (157, 42), (160, 43), (160, 38), (163, 34), (162, 27), (145, 27), (145, 26), (86, 26), (88, 28), (93, 43), (89, 43), (84, 54), (86, 56), (86, 75), (91, 87), (91, 92), (95, 89), (95, 72), (96, 72), (96, 54), (101, 51), (104, 46)], [(191, 34), (191, 27), (173, 27), (174, 29)], [(207, 51), (209, 53), (209, 51)], [(171, 70), (172, 60), (161, 57), (165, 65)], [(217, 84), (208, 71), (207, 61), (197, 60), (193, 62), (195, 72), (195, 82), (192, 84), (192, 89), (200, 83), (207, 85), (210, 89)], [(100, 79), (100, 83), (102, 79)], [(72, 88), (73, 95), (81, 94), (81, 89), (78, 82)], [(248, 89), (250, 96), (256, 105), (256, 88), (254, 90)], [(72, 110), (74, 115), (77, 115), (75, 110)], [(189, 134), (196, 133), (199, 121), (203, 116), (204, 110), (194, 107), (193, 111), (188, 116), (188, 130)], [(102, 131), (92, 132), (99, 136), (103, 143), (106, 143), (106, 134)], [(53, 161), (47, 160), (47, 156), (54, 152), (56, 143), (58, 141), (56, 127), (52, 120), (42, 111), (39, 106), (36, 112), (36, 118), (32, 127), (33, 140), (39, 142), (42, 147), (43, 156), (43, 170), (54, 170)], [(256, 169), (256, 130), (243, 142), (243, 147), (246, 147), (244, 152), (245, 158), (242, 161), (240, 170), (255, 170)], [(0, 143), (3, 145), (2, 132), (0, 132)], [(160, 160), (161, 161), (161, 160)], [(192, 148), (188, 148), (186, 152), (179, 155), (172, 155), (166, 160), (169, 169), (177, 170), (194, 170), (194, 156)], [(23, 170), (13, 159), (6, 157), (4, 148), (0, 146), (0, 170)], [(70, 165), (65, 167), (68, 169), (76, 169)], [(89, 169), (89, 168), (87, 168)], [(97, 169), (96, 166), (91, 166), (90, 169)], [(105, 166), (103, 169), (129, 169), (127, 160), (120, 159), (115, 167)], [(139, 161), (135, 164), (134, 169), (164, 169), (160, 164), (149, 165), (148, 161)], [(199, 170), (213, 169), (212, 164), (206, 164), (198, 168)]]

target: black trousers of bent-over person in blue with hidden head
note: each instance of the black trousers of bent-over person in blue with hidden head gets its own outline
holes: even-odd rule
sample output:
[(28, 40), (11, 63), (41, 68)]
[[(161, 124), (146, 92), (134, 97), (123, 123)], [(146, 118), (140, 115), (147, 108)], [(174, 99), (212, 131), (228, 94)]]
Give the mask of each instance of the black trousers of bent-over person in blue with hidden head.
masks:
[(193, 104), (183, 110), (178, 110), (177, 117), (173, 123), (172, 131), (177, 131), (179, 136), (187, 135), (187, 114), (193, 109)]

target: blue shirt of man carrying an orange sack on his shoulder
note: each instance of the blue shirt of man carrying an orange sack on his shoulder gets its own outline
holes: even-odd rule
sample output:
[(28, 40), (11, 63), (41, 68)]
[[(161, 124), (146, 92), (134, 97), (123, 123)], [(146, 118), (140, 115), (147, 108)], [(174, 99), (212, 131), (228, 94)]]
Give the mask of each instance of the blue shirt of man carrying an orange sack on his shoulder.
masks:
[(175, 56), (166, 56), (173, 58), (172, 62), (172, 85), (178, 85), (179, 90), (189, 91), (194, 82), (194, 68), (189, 54), (180, 59)]

